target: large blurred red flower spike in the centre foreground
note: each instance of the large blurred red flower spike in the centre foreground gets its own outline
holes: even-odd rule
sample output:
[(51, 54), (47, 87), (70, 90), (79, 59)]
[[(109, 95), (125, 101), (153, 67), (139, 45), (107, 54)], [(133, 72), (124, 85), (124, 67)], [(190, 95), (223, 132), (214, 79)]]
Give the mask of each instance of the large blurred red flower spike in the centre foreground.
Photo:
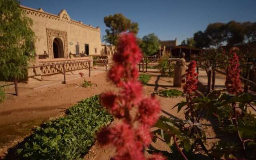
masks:
[[(118, 93), (105, 92), (100, 95), (101, 104), (106, 107), (120, 124), (103, 128), (98, 134), (101, 145), (112, 144), (116, 156), (112, 160), (164, 160), (159, 155), (144, 157), (144, 148), (151, 143), (151, 126), (156, 123), (160, 112), (159, 102), (154, 97), (142, 95), (142, 84), (138, 81), (137, 63), (142, 59), (136, 37), (123, 33), (118, 40), (114, 65), (108, 78), (120, 89)], [(132, 108), (135, 113), (131, 114)]]

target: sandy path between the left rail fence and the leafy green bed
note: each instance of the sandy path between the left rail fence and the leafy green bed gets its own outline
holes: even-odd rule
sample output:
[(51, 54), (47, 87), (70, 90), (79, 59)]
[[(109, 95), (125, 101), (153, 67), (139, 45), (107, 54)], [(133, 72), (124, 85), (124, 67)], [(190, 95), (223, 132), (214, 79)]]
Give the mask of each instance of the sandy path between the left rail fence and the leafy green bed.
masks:
[(97, 86), (80, 87), (83, 78), (79, 78), (67, 84), (32, 90), (18, 97), (8, 96), (8, 99), (0, 104), (0, 156), (4, 155), (7, 148), (31, 134), (31, 128), (34, 126), (62, 114), (66, 108), (84, 98), (115, 89), (107, 82), (105, 72), (85, 79)]

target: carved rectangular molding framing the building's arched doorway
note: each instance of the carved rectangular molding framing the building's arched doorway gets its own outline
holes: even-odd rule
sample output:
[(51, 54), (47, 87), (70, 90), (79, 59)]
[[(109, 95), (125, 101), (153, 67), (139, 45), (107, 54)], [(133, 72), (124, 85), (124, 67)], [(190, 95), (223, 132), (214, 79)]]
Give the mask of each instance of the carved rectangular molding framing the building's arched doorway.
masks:
[(67, 32), (46, 28), (46, 36), (47, 36), (47, 46), (48, 46), (49, 58), (54, 58), (52, 44), (53, 44), (54, 38), (56, 38), (56, 37), (63, 38), (63, 40), (64, 40), (63, 41), (64, 57), (68, 58), (68, 34), (67, 34)]

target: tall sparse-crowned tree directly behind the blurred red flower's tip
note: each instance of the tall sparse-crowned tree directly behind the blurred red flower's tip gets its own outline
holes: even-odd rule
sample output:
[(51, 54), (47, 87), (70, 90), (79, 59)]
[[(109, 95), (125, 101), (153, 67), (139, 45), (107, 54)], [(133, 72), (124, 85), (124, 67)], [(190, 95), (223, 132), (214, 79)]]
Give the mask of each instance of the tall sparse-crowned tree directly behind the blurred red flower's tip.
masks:
[(137, 34), (139, 31), (138, 23), (131, 22), (121, 13), (104, 17), (104, 23), (108, 29), (106, 29), (106, 35), (103, 36), (103, 40), (115, 46), (120, 33), (129, 31)]

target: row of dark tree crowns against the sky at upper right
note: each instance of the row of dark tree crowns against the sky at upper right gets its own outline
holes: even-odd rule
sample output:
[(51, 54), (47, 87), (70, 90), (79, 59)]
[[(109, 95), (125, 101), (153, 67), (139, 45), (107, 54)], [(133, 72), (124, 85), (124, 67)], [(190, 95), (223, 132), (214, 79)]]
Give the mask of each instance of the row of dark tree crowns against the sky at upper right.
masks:
[(256, 40), (256, 22), (236, 22), (230, 21), (228, 23), (212, 23), (208, 24), (204, 32), (198, 31), (194, 34), (196, 47), (208, 48), (214, 46), (216, 49), (225, 42), (227, 46), (243, 44), (246, 42), (253, 42)]

